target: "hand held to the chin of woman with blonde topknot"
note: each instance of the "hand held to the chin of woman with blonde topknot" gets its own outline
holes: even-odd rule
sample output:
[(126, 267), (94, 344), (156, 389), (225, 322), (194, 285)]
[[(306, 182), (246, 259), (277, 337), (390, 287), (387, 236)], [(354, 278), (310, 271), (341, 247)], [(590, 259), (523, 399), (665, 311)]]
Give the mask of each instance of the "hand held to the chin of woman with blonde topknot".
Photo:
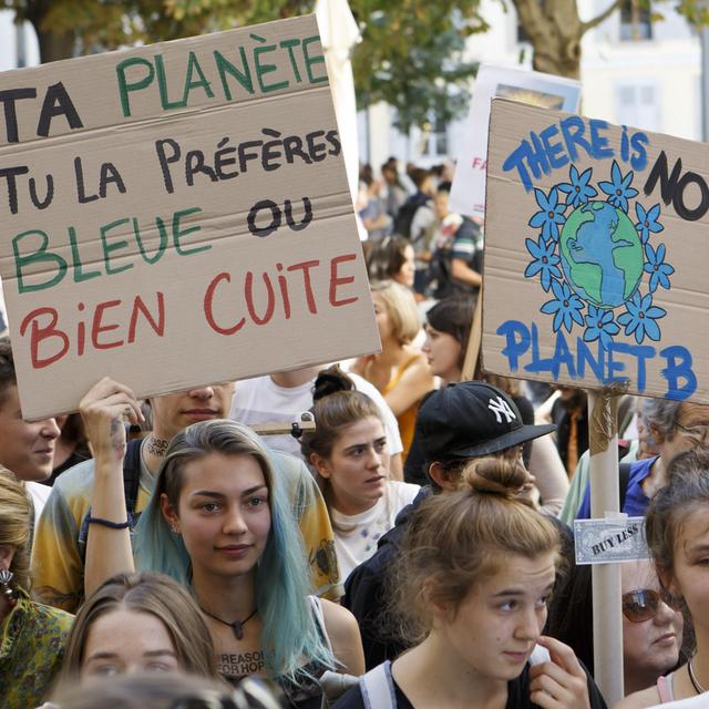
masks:
[(530, 698), (543, 709), (589, 709), (586, 672), (574, 650), (554, 638), (542, 636), (537, 645), (549, 651), (551, 661), (530, 668)]

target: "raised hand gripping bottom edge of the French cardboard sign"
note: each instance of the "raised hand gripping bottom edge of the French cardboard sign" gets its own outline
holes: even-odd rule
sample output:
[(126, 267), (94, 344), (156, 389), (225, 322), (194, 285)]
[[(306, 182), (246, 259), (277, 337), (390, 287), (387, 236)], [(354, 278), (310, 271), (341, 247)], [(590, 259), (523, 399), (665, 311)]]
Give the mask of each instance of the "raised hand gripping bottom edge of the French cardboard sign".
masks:
[(79, 410), (94, 458), (123, 460), (126, 444), (124, 419), (131, 423), (144, 420), (133, 391), (104, 377), (84, 395)]

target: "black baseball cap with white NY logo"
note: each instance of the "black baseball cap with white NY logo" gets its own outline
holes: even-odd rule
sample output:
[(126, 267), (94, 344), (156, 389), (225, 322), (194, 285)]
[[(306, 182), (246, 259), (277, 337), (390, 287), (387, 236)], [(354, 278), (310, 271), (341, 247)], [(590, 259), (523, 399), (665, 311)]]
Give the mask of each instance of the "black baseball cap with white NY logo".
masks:
[(526, 425), (501, 389), (463, 381), (431, 392), (419, 407), (417, 434), (428, 463), (499, 453), (556, 431), (556, 425)]

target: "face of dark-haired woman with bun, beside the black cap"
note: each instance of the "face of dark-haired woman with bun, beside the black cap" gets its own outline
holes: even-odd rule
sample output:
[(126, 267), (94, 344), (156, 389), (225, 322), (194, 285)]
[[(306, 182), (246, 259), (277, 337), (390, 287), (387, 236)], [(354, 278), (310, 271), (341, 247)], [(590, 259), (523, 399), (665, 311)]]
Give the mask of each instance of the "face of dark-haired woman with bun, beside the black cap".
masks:
[(377, 417), (352, 423), (340, 433), (327, 459), (314, 461), (318, 473), (330, 481), (335, 508), (358, 514), (384, 494), (389, 452), (384, 427)]

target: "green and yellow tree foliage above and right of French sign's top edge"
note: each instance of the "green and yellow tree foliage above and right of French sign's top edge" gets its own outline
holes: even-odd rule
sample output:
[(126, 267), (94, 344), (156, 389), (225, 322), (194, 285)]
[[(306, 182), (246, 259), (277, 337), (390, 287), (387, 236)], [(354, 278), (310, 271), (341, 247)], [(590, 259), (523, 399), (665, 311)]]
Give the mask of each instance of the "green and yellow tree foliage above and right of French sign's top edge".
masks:
[[(43, 62), (312, 12), (315, 0), (0, 0), (30, 21)], [(362, 30), (352, 64), (360, 107), (386, 101), (403, 131), (467, 103), (465, 39), (487, 29), (476, 0), (350, 0)]]

